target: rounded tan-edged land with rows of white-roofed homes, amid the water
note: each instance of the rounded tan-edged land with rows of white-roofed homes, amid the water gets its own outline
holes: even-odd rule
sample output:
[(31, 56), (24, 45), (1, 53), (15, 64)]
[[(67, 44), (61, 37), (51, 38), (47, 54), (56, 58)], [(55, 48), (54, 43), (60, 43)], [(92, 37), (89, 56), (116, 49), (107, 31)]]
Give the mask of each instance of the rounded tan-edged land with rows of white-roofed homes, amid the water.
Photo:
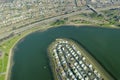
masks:
[(114, 80), (77, 42), (58, 38), (48, 47), (54, 80)]

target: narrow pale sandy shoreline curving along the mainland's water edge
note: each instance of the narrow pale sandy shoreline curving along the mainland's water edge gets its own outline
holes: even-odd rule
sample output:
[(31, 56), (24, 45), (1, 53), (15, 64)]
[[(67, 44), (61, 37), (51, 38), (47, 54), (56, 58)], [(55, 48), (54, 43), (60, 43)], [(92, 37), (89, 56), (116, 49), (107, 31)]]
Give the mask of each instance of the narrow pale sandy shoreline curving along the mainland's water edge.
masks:
[[(18, 39), (15, 43), (14, 43), (14, 45), (12, 46), (12, 48), (10, 49), (10, 52), (9, 52), (9, 57), (8, 57), (8, 64), (7, 64), (7, 69), (6, 69), (6, 75), (5, 75), (5, 80), (9, 80), (8, 78), (9, 78), (9, 74), (11, 73), (10, 72), (10, 70), (12, 69), (12, 66), (13, 66), (13, 61), (12, 61), (12, 58), (13, 58), (13, 50), (14, 50), (14, 48), (16, 47), (16, 45), (17, 45), (17, 43), (19, 42), (19, 41), (21, 41), (22, 39), (24, 39), (24, 37), (26, 37), (27, 35), (30, 35), (30, 34), (32, 34), (32, 33), (34, 33), (34, 32), (36, 32), (36, 31), (46, 31), (47, 29), (50, 29), (50, 28), (56, 28), (56, 27), (61, 27), (61, 26), (74, 26), (74, 27), (81, 27), (81, 26), (95, 26), (95, 25), (92, 25), (92, 24), (62, 24), (62, 25), (42, 25), (42, 26), (44, 26), (44, 27), (33, 27), (33, 28), (31, 28), (31, 29), (29, 29), (29, 30), (27, 30), (27, 31), (25, 31), (25, 32), (22, 32), (21, 33), (21, 38), (20, 39)], [(95, 26), (96, 27), (96, 26)], [(98, 26), (99, 27), (99, 26)], [(106, 27), (100, 27), (100, 28), (106, 28)], [(108, 27), (109, 29), (111, 29), (111, 27)], [(114, 29), (116, 29), (116, 28), (114, 28)], [(18, 36), (18, 35), (17, 35)], [(9, 76), (8, 76), (9, 75)]]

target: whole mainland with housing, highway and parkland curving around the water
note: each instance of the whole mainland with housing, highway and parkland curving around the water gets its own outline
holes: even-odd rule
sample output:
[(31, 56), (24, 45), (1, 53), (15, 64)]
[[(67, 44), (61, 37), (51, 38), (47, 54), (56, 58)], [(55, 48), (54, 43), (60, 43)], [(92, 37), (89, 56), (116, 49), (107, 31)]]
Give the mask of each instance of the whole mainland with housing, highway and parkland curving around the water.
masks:
[(120, 0), (0, 0), (0, 80), (11, 76), (13, 48), (28, 34), (63, 25), (120, 28), (119, 14)]

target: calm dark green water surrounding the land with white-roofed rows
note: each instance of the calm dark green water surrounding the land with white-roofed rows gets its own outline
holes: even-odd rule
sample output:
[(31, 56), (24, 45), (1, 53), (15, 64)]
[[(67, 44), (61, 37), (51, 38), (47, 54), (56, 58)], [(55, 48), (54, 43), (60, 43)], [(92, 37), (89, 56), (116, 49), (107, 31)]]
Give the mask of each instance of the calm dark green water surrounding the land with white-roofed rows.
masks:
[(47, 47), (56, 38), (77, 41), (120, 80), (120, 29), (87, 26), (51, 28), (25, 37), (14, 49), (11, 80), (53, 80)]

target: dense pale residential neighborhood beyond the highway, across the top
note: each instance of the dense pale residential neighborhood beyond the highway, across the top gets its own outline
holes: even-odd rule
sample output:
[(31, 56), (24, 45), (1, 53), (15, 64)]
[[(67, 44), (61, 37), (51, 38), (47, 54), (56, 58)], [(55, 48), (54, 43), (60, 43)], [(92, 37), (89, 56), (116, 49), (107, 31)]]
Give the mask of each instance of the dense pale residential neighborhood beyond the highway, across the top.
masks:
[(77, 10), (120, 4), (119, 0), (14, 0), (0, 3), (0, 27), (9, 26), (31, 18), (48, 18)]

